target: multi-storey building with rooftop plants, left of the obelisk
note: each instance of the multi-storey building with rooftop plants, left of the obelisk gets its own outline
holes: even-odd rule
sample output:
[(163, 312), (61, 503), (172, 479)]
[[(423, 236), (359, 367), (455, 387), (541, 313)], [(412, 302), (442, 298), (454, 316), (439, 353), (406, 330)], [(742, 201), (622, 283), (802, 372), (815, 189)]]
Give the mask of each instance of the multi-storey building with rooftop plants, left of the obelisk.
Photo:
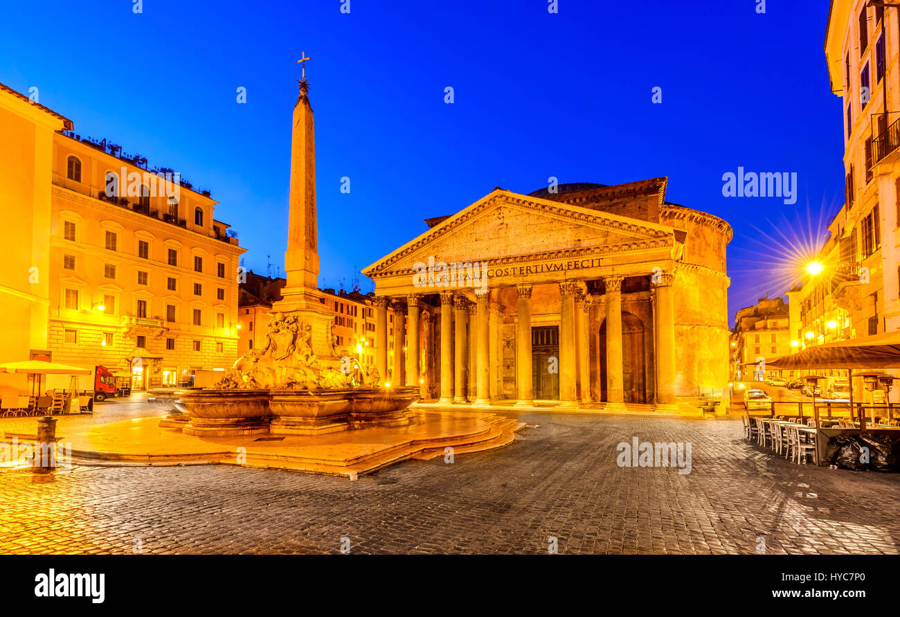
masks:
[[(192, 383), (197, 370), (230, 367), (244, 250), (214, 219), (216, 202), (63, 128), (71, 122), (43, 135), (33, 189), (40, 200), (32, 198), (34, 215), (17, 234), (43, 247), (31, 250), (43, 266), (14, 251), (37, 263), (45, 281), (29, 301), (43, 310), (25, 330), (35, 333), (27, 353), (46, 349), (57, 362), (128, 370), (134, 389)], [(6, 144), (3, 155), (23, 156)], [(5, 214), (16, 224), (22, 218), (17, 208)], [(19, 313), (26, 300), (5, 296), (4, 313)], [(16, 343), (4, 360), (25, 354)]]

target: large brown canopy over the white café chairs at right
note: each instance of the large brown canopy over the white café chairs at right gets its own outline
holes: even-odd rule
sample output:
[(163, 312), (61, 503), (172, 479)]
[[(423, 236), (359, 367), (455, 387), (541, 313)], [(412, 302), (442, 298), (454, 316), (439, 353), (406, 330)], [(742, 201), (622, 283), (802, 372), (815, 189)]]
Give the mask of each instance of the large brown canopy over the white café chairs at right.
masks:
[(775, 368), (900, 368), (900, 331), (807, 347), (766, 361)]

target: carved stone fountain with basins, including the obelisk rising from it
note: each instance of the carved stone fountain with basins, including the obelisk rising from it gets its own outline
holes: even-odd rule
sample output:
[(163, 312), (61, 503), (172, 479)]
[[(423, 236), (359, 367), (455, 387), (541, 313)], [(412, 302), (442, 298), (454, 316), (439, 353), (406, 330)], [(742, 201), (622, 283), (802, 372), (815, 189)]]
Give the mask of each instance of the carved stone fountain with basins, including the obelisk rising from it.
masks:
[[(239, 358), (215, 385), (176, 391), (178, 411), (160, 422), (190, 435), (320, 435), (410, 423), (419, 388), (382, 384), (336, 349), (332, 315), (318, 289), (316, 164), (309, 84), (293, 108), (287, 285), (269, 313), (266, 345)], [(386, 344), (387, 332), (379, 332)]]

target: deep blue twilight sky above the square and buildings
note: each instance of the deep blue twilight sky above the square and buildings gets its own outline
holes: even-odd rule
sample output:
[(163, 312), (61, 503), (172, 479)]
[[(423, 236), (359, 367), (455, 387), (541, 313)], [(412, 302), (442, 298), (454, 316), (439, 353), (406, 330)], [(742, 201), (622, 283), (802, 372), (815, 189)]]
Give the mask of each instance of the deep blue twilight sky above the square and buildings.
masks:
[[(291, 113), (305, 51), (316, 112), (320, 286), (494, 186), (669, 177), (669, 201), (734, 227), (730, 315), (766, 292), (776, 230), (815, 236), (842, 203), (842, 104), (825, 0), (131, 0), (15, 3), (0, 81), (76, 132), (175, 168), (220, 202), (245, 264), (284, 272)], [(238, 104), (238, 86), (247, 104)], [(444, 89), (455, 103), (444, 103)], [(662, 104), (651, 102), (662, 88)], [(796, 172), (797, 204), (725, 198), (741, 166)], [(340, 192), (349, 177), (351, 192)]]

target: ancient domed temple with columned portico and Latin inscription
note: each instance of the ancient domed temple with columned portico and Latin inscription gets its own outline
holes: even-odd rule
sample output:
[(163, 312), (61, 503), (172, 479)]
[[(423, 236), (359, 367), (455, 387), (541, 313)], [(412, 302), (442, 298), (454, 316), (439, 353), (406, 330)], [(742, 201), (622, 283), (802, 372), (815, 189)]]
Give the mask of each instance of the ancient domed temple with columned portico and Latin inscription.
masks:
[(666, 202), (666, 182), (498, 187), (426, 220), (363, 270), (377, 331), (389, 305), (395, 317), (376, 343), (380, 376), (474, 406), (675, 411), (725, 388), (732, 230)]

